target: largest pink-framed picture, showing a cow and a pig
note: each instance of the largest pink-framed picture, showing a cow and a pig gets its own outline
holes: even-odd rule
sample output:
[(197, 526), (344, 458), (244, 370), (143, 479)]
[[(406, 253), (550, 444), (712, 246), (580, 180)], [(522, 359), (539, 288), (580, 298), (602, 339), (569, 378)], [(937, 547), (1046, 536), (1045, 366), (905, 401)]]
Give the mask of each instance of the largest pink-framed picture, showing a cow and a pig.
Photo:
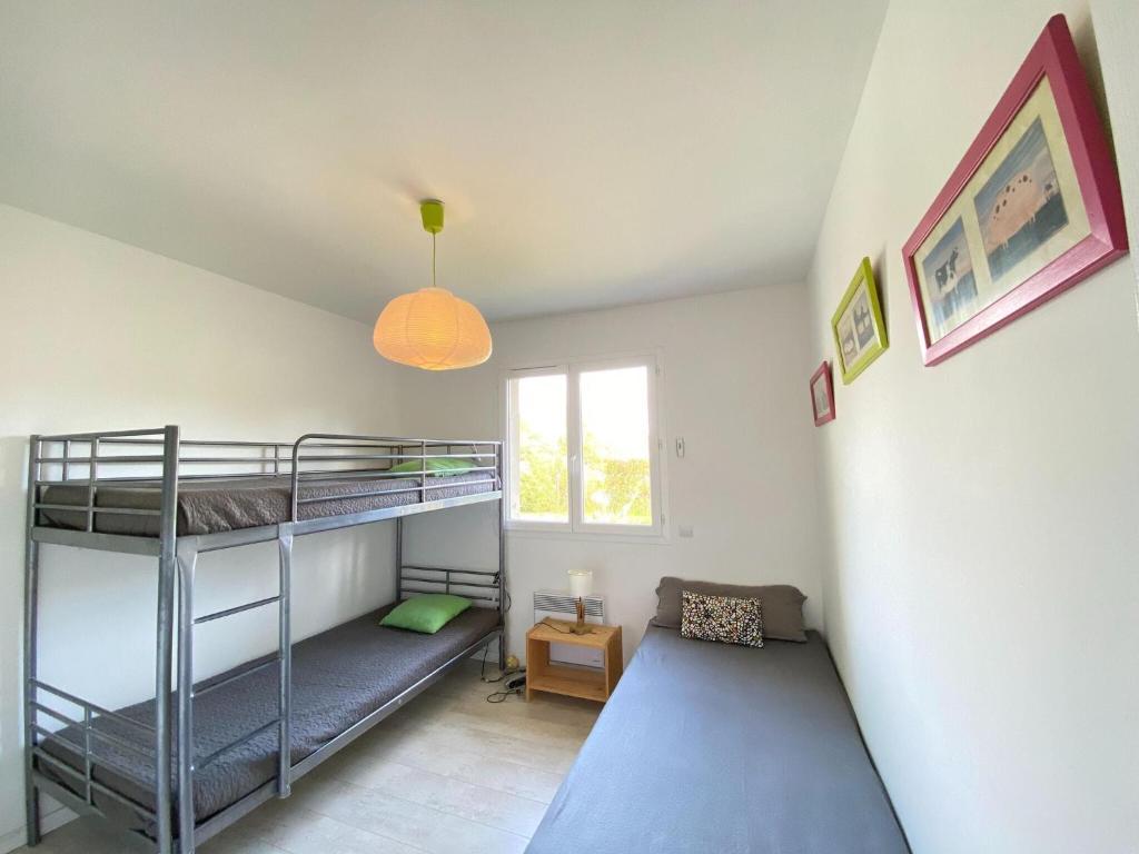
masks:
[(923, 361), (937, 364), (1124, 254), (1118, 175), (1057, 15), (902, 249)]

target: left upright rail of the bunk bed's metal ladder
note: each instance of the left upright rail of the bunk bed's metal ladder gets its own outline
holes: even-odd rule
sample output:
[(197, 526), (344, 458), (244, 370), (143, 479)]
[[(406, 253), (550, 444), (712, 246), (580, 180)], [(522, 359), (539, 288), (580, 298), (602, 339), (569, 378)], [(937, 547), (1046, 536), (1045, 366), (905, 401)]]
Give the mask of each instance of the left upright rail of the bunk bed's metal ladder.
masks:
[(178, 851), (194, 852), (194, 575), (196, 537), (178, 542)]

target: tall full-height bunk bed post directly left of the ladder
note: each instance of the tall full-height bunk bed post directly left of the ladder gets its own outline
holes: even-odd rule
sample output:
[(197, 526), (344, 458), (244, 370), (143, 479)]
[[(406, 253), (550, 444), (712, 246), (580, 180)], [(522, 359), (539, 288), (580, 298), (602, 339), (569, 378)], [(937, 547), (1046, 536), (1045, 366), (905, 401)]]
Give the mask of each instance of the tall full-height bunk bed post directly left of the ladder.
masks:
[[(174, 633), (174, 586), (178, 564), (178, 427), (163, 430), (162, 515), (158, 549), (158, 613), (155, 649), (155, 820), (158, 854), (173, 854), (174, 829), (171, 815), (170, 691), (171, 647)], [(181, 754), (181, 761), (187, 758)]]

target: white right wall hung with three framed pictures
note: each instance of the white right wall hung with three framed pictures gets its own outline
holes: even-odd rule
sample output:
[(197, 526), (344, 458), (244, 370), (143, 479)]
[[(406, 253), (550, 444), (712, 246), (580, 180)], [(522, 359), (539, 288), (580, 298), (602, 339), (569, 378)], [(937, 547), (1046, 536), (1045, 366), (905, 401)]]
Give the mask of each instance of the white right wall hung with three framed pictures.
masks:
[(1087, 60), (1079, 0), (891, 5), (810, 277), (820, 350), (863, 255), (884, 290), (817, 434), (826, 629), (919, 854), (1139, 849), (1132, 268), (927, 369), (901, 261), (1057, 7)]

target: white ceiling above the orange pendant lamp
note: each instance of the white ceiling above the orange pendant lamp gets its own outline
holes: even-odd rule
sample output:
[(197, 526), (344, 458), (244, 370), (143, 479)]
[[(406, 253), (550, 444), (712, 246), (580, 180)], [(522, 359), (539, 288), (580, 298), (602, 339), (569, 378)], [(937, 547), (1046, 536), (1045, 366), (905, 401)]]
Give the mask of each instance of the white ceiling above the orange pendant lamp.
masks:
[(804, 278), (886, 0), (6, 2), (0, 200), (371, 322)]

